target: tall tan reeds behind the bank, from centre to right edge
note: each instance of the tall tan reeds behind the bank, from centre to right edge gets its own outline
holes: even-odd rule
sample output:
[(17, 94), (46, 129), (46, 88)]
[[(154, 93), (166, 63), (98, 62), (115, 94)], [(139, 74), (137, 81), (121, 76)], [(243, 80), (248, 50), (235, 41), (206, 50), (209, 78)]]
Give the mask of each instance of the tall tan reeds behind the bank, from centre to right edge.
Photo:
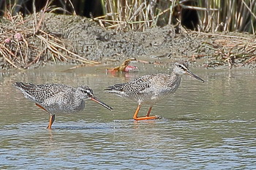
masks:
[[(185, 9), (197, 11), (200, 31), (246, 31), (255, 34), (256, 1), (198, 0), (105, 0), (105, 15), (94, 18), (105, 28), (118, 30), (140, 30), (154, 26), (181, 23), (181, 12)], [(189, 16), (183, 16), (189, 17)]]

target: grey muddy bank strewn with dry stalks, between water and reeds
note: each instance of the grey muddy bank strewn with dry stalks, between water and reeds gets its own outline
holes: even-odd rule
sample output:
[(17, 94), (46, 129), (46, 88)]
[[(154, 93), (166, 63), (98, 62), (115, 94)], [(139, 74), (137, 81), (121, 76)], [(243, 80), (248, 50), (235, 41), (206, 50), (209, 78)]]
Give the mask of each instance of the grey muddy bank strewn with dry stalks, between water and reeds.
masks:
[[(256, 40), (250, 34), (205, 34), (173, 26), (144, 32), (106, 30), (79, 16), (45, 14), (1, 19), (1, 69), (29, 69), (44, 63), (112, 63), (144, 57), (183, 59), (201, 66), (255, 65)], [(118, 64), (118, 62), (116, 62)]]

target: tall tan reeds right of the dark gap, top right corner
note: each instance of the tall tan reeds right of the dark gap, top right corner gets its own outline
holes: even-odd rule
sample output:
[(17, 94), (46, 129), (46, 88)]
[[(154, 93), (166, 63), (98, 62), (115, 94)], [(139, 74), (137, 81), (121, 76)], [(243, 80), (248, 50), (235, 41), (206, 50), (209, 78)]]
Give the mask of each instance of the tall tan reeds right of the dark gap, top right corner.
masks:
[[(203, 31), (239, 31), (255, 34), (256, 31), (256, 1), (198, 1), (200, 28)], [(214, 10), (212, 10), (214, 9)]]

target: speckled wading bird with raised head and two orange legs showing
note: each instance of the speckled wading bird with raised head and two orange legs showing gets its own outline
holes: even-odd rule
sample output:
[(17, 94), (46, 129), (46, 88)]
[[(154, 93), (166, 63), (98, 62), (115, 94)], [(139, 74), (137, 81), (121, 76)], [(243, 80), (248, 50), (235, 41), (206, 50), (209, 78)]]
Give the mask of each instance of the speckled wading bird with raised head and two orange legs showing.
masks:
[[(148, 74), (131, 82), (109, 86), (105, 90), (107, 90), (107, 93), (114, 93), (138, 102), (138, 107), (133, 116), (134, 120), (157, 119), (159, 117), (149, 116), (153, 105), (177, 90), (181, 84), (183, 74), (189, 74), (204, 82), (203, 79), (189, 71), (187, 63), (180, 61), (174, 63), (173, 72), (170, 74)], [(145, 117), (138, 117), (138, 112), (143, 103), (150, 104), (148, 113)]]

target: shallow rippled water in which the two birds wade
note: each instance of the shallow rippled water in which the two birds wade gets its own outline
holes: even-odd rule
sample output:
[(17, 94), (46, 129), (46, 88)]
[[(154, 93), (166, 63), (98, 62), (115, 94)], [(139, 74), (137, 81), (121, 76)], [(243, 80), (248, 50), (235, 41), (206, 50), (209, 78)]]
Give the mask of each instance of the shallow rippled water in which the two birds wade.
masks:
[[(180, 88), (156, 104), (160, 120), (132, 120), (137, 104), (103, 89), (132, 74), (106, 74), (102, 66), (65, 71), (46, 66), (0, 74), (0, 169), (256, 169), (256, 76), (252, 69), (197, 69), (202, 83), (184, 76)], [(93, 101), (75, 115), (49, 115), (12, 87), (13, 82), (89, 85), (111, 112)], [(139, 115), (145, 115), (143, 105)]]

